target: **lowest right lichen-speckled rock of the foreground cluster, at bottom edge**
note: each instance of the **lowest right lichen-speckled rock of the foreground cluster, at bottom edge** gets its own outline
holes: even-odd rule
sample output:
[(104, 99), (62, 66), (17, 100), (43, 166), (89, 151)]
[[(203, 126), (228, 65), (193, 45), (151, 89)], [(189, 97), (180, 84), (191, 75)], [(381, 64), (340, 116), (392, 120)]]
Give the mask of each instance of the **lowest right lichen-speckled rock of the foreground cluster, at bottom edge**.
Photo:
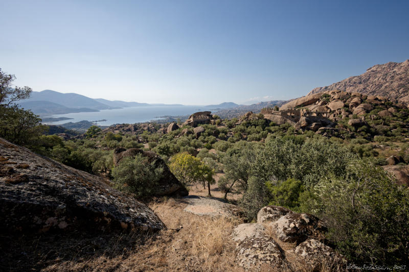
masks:
[(293, 252), (308, 271), (322, 271), (323, 264), (332, 266), (334, 271), (347, 271), (347, 260), (319, 240), (307, 239)]

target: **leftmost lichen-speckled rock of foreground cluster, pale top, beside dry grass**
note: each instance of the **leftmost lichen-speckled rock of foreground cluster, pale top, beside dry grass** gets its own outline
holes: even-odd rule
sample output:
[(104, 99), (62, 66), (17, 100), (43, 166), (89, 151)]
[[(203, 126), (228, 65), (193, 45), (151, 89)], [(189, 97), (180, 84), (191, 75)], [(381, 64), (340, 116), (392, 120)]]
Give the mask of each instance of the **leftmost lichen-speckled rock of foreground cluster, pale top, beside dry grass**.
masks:
[(280, 268), (283, 255), (277, 242), (265, 234), (260, 224), (241, 224), (232, 234), (236, 241), (236, 262), (248, 271), (260, 271), (262, 266)]

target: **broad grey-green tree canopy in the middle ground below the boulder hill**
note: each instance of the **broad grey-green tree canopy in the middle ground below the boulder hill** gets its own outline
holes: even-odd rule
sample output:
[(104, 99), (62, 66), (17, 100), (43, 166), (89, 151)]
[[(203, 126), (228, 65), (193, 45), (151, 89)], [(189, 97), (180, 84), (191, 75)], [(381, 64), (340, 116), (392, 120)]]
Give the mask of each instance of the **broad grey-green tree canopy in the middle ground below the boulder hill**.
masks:
[(353, 158), (342, 145), (299, 136), (269, 138), (256, 158), (254, 175), (264, 182), (300, 180), (310, 187), (328, 175), (343, 176)]

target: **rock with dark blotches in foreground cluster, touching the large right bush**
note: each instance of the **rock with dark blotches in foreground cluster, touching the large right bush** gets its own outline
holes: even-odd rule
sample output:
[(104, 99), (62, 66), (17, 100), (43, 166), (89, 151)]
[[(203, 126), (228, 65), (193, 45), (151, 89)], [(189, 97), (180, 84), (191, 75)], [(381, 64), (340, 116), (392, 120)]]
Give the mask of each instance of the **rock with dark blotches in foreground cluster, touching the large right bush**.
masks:
[(269, 224), (277, 239), (283, 242), (301, 243), (307, 238), (321, 239), (327, 228), (314, 215), (290, 213)]

